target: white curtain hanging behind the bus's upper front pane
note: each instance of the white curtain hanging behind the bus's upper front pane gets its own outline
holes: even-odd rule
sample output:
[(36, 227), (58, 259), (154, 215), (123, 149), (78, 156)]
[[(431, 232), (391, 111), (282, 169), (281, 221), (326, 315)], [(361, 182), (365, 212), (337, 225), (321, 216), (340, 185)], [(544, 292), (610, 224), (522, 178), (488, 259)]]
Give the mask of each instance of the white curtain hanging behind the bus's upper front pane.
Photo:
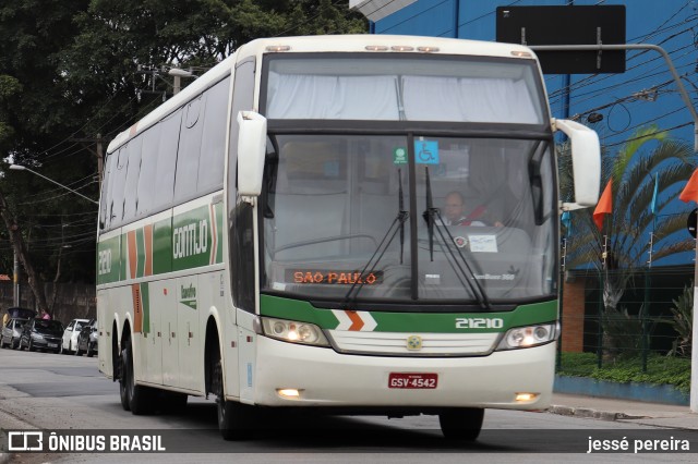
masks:
[(398, 81), (397, 76), (272, 72), (268, 85), (269, 119), (520, 124), (540, 124), (543, 120), (522, 80), (402, 76)]

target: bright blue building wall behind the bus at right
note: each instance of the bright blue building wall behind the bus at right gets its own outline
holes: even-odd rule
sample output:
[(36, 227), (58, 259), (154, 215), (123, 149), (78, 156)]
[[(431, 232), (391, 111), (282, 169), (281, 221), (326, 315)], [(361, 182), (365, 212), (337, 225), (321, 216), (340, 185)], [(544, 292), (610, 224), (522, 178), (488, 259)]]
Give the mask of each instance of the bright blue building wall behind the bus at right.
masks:
[[(671, 57), (691, 101), (698, 98), (698, 3), (695, 0), (351, 0), (374, 34), (495, 40), (497, 7), (625, 5), (626, 42), (661, 46)], [(694, 120), (662, 56), (626, 52), (623, 74), (545, 75), (555, 118), (594, 129), (603, 148), (622, 149), (636, 131), (657, 126), (673, 138), (695, 143)], [(679, 192), (674, 185), (661, 196)], [(695, 205), (674, 200), (660, 215), (687, 215)], [(676, 234), (678, 235), (678, 234)], [(686, 240), (685, 236), (673, 237)], [(684, 253), (658, 265), (693, 265)]]

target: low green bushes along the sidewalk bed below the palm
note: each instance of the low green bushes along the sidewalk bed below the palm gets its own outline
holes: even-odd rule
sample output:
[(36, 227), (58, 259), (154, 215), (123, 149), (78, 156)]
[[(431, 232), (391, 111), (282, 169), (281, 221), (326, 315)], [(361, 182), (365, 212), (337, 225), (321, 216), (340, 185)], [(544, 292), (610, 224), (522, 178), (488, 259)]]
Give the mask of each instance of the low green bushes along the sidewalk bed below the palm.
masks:
[(647, 359), (647, 371), (642, 371), (640, 358), (617, 358), (614, 363), (604, 363), (599, 369), (594, 353), (563, 353), (557, 374), (621, 383), (667, 383), (683, 393), (690, 391), (690, 358), (683, 357), (651, 354)]

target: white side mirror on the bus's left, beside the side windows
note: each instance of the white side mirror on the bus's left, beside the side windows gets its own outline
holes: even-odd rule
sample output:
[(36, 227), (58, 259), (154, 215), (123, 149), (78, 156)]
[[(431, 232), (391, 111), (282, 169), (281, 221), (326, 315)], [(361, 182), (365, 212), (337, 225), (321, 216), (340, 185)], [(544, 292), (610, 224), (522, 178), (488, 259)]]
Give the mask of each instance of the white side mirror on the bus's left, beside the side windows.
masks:
[(254, 111), (240, 111), (238, 124), (238, 193), (260, 196), (266, 154), (266, 118)]

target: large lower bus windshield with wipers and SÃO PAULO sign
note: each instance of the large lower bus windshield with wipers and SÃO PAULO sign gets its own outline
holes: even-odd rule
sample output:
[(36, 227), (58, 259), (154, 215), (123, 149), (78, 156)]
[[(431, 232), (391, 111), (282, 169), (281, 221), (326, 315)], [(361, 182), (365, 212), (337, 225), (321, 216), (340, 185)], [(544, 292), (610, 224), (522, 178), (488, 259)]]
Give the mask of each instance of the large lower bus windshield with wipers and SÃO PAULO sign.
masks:
[(556, 294), (550, 141), (273, 138), (263, 292), (426, 305)]

